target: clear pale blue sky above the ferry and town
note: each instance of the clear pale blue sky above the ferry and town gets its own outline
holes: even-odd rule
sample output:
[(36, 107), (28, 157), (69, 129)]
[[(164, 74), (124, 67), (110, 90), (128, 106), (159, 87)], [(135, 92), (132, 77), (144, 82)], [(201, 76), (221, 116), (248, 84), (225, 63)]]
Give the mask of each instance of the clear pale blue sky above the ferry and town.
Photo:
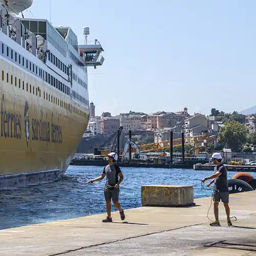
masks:
[[(89, 26), (105, 50), (104, 65), (89, 68), (96, 114), (208, 114), (256, 104), (255, 9), (254, 0), (52, 0), (52, 24), (79, 41)], [(29, 10), (49, 19), (49, 0)]]

